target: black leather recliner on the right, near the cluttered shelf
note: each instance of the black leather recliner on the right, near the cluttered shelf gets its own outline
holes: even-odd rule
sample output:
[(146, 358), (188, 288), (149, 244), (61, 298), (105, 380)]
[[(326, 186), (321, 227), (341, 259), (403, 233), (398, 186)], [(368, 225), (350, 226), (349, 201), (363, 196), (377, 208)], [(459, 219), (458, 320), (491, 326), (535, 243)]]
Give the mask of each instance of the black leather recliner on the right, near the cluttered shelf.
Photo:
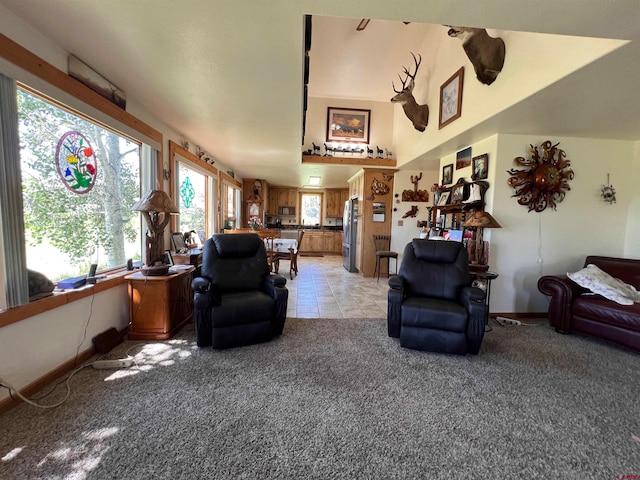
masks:
[(406, 348), (477, 354), (488, 317), (485, 292), (471, 286), (459, 242), (414, 239), (389, 278), (387, 326)]

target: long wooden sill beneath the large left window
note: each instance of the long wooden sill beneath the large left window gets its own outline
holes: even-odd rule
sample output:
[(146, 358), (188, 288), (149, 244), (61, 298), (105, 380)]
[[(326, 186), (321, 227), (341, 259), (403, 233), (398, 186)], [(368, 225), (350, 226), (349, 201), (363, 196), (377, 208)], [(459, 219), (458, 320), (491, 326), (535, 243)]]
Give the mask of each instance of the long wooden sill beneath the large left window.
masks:
[(124, 277), (130, 273), (131, 272), (127, 270), (116, 271), (95, 285), (85, 285), (84, 287), (74, 290), (54, 292), (53, 295), (49, 297), (35, 300), (26, 305), (20, 305), (19, 307), (8, 310), (0, 310), (0, 328), (127, 283)]

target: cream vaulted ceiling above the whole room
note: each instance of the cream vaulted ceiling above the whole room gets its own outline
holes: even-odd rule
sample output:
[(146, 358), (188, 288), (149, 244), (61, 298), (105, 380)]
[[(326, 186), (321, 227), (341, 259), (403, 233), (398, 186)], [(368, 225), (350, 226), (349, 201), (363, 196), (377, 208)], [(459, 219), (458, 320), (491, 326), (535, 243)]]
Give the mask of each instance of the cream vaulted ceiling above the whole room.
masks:
[[(0, 0), (0, 9), (28, 24), (0, 20), (6, 35), (34, 28), (122, 88), (132, 111), (162, 119), (243, 177), (281, 185), (302, 185), (311, 171), (300, 143), (305, 14), (342, 17), (318, 22), (335, 48), (314, 58), (310, 79), (311, 95), (331, 98), (388, 101), (397, 59), (434, 25), (633, 40), (461, 138), (399, 159), (407, 168), (491, 133), (540, 125), (541, 133), (640, 138), (637, 0)], [(372, 21), (356, 32), (362, 18)], [(25, 46), (42, 55), (42, 45)], [(349, 173), (327, 178), (344, 182)]]

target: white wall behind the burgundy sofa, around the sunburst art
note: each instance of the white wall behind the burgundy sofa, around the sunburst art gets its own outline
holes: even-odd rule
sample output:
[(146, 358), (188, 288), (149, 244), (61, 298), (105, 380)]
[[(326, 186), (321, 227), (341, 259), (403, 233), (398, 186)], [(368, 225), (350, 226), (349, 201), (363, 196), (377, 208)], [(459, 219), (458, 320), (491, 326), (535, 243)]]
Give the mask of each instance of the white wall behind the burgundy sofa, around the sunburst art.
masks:
[[(527, 212), (511, 197), (506, 170), (514, 168), (515, 157), (530, 158), (529, 144), (545, 140), (560, 142), (575, 177), (557, 210)], [(500, 273), (492, 286), (492, 311), (545, 312), (548, 302), (537, 288), (540, 276), (575, 271), (587, 255), (640, 256), (640, 249), (625, 251), (627, 217), (636, 196), (633, 162), (634, 142), (499, 135), (497, 164), (491, 165), (497, 173), (491, 182), (491, 213), (503, 228), (490, 232), (491, 268)], [(600, 196), (607, 173), (618, 192), (613, 205)]]

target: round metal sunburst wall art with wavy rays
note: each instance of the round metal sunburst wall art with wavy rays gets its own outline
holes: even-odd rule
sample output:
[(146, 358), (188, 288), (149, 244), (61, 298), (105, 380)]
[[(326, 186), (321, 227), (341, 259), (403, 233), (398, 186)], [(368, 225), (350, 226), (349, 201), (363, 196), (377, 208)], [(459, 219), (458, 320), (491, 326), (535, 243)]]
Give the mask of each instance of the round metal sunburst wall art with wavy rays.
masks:
[(526, 205), (529, 211), (542, 212), (551, 207), (554, 210), (558, 203), (564, 200), (569, 187), (569, 180), (573, 179), (571, 161), (566, 159), (564, 150), (557, 148), (549, 140), (543, 142), (543, 153), (540, 156), (538, 147), (530, 145), (531, 158), (516, 157), (513, 162), (523, 170), (512, 168), (507, 170), (511, 175), (508, 183), (515, 189), (513, 197), (518, 198), (520, 205)]

